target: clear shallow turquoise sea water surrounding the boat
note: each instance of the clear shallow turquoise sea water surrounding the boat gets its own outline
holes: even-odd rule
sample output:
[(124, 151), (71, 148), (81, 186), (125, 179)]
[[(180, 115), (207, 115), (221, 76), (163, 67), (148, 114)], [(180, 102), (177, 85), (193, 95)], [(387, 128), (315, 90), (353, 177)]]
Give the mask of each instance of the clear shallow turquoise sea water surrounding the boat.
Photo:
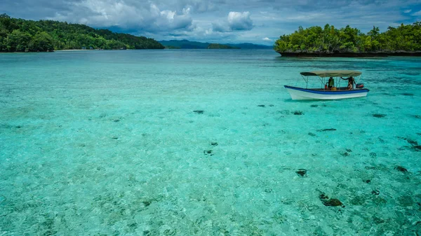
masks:
[[(0, 68), (0, 235), (421, 235), (419, 58), (63, 51)], [(292, 101), (283, 85), (318, 69), (363, 71), (368, 97)]]

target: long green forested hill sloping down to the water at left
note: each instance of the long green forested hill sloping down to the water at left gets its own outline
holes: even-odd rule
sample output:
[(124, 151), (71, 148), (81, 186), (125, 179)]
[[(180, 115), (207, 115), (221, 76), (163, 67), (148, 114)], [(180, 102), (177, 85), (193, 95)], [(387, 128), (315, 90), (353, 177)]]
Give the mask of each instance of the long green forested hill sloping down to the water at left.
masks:
[(163, 49), (154, 39), (53, 20), (22, 20), (0, 15), (0, 52), (65, 49)]

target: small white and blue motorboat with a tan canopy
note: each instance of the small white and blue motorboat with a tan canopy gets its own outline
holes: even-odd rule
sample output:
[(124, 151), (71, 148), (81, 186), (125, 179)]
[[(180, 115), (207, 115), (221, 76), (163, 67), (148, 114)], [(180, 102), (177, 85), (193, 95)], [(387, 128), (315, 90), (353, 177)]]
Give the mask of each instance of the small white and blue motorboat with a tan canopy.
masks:
[[(350, 71), (350, 70), (336, 70), (336, 71), (310, 71), (301, 72), (302, 78), (306, 83), (305, 88), (298, 88), (293, 86), (284, 85), (288, 90), (293, 100), (309, 100), (309, 99), (347, 99), (354, 97), (366, 97), (370, 90), (364, 88), (363, 83), (358, 83), (361, 78), (361, 71)], [(319, 78), (321, 82), (321, 88), (307, 88), (309, 85), (309, 78)], [(333, 86), (328, 87), (328, 78), (334, 78)], [(352, 89), (341, 87), (340, 83), (345, 78), (341, 77), (352, 77), (355, 81)], [(343, 81), (347, 85), (347, 81)], [(343, 83), (342, 82), (342, 83)]]

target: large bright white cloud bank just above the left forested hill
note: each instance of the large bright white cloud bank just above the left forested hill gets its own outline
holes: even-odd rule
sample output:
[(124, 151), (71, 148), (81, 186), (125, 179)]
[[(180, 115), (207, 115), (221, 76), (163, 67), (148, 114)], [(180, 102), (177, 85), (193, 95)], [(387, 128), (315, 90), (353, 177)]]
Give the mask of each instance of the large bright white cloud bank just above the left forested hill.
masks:
[[(93, 27), (120, 27), (121, 29), (142, 29), (147, 32), (168, 32), (171, 30), (192, 30), (190, 8), (179, 13), (161, 10), (152, 3), (128, 4), (121, 0), (83, 0), (73, 3), (74, 11), (56, 14), (51, 20), (82, 23)], [(77, 9), (77, 10), (76, 10)]]

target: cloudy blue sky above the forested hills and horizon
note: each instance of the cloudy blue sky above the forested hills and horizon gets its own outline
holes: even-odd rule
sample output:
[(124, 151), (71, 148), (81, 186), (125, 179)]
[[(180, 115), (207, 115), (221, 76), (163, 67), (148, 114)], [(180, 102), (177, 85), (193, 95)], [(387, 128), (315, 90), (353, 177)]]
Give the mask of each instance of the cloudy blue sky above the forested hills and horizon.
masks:
[(421, 21), (421, 0), (1, 0), (0, 13), (58, 20), (156, 40), (273, 45), (299, 26), (366, 33)]

